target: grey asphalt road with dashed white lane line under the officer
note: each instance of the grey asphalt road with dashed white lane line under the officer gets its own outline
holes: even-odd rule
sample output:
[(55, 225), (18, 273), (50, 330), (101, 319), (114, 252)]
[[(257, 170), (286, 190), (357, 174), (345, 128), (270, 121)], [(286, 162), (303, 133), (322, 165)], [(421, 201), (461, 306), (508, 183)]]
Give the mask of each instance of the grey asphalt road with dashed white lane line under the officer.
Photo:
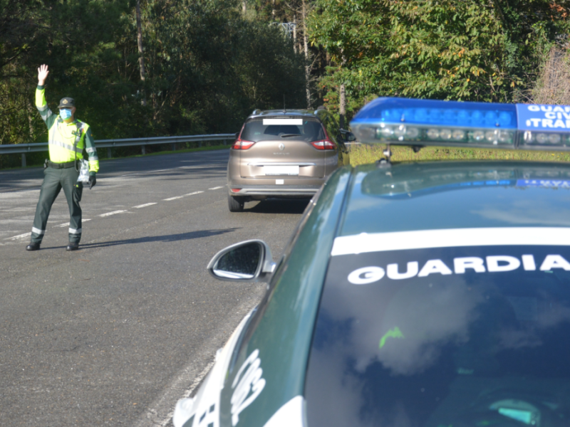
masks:
[(102, 162), (76, 252), (63, 191), (41, 251), (24, 250), (43, 169), (0, 172), (0, 425), (168, 423), (266, 288), (214, 280), (207, 262), (249, 238), (279, 258), (306, 206), (230, 214), (227, 156)]

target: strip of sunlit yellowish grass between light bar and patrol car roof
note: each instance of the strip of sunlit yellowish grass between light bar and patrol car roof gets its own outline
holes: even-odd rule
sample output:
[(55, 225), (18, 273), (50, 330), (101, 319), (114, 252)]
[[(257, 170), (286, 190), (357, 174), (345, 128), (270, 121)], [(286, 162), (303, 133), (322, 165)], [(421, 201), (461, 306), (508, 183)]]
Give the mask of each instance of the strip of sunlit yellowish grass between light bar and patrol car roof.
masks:
[[(384, 157), (384, 144), (354, 145), (351, 147), (351, 164), (373, 163)], [(526, 160), (534, 162), (570, 162), (570, 153), (512, 151), (503, 149), (473, 149), (424, 147), (420, 152), (413, 152), (410, 147), (390, 146), (393, 162), (426, 162), (430, 160)]]

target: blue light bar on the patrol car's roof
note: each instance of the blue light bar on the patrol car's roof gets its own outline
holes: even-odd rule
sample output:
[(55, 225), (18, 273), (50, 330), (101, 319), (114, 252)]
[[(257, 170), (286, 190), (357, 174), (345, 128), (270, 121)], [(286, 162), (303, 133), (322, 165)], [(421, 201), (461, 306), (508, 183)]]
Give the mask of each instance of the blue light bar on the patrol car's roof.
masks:
[(570, 150), (570, 106), (381, 97), (351, 121), (368, 144)]

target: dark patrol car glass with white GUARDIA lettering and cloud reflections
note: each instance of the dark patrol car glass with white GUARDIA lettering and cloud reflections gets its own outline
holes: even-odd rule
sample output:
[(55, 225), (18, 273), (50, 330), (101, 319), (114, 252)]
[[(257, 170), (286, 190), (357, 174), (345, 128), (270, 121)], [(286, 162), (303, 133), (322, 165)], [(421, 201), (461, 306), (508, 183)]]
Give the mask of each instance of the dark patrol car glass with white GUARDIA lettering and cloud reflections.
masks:
[(308, 425), (569, 426), (569, 337), (568, 246), (333, 254)]

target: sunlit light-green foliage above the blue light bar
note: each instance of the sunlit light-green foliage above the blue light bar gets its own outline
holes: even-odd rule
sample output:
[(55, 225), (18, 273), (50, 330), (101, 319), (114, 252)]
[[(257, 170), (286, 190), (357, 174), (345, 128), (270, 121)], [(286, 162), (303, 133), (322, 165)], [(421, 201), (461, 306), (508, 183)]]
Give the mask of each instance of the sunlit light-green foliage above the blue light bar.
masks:
[[(370, 95), (509, 102), (567, 33), (549, 0), (316, 0), (309, 30), (337, 67), (323, 80)], [(328, 95), (330, 96), (330, 95)]]

